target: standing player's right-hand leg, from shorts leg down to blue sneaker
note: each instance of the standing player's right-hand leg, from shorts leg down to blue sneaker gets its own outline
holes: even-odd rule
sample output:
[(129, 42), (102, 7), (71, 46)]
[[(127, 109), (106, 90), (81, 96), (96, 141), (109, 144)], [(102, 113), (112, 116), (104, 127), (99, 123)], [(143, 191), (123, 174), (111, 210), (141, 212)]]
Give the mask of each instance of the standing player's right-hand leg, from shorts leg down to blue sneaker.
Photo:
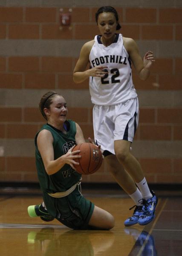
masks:
[[(130, 113), (130, 115), (128, 115)], [(156, 195), (150, 191), (147, 181), (144, 177), (142, 167), (139, 161), (131, 154), (130, 146), (139, 122), (139, 105), (138, 99), (129, 100), (124, 106), (117, 105), (114, 133), (114, 151), (118, 161), (124, 166), (124, 169), (130, 174), (138, 186), (144, 199), (145, 207), (142, 210), (149, 218), (140, 216), (139, 224), (149, 223), (155, 212), (157, 204)], [(152, 207), (150, 205), (152, 204)], [(149, 205), (149, 206), (148, 206)], [(150, 211), (152, 209), (152, 211)], [(136, 210), (136, 209), (135, 209)]]

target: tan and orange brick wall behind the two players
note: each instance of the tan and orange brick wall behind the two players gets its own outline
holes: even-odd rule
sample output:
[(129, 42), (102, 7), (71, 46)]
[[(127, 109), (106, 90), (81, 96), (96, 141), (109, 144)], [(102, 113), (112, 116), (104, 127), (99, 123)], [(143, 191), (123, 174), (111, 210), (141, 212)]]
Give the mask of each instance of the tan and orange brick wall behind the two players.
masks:
[[(150, 79), (133, 70), (140, 123), (132, 145), (150, 183), (182, 183), (182, 2), (180, 0), (0, 1), (0, 180), (37, 181), (34, 136), (44, 123), (40, 97), (57, 90), (69, 118), (93, 137), (88, 81), (74, 84), (81, 46), (98, 34), (95, 11), (116, 7), (121, 33), (141, 55), (156, 56)], [(62, 3), (62, 6), (60, 6)], [(92, 5), (91, 5), (92, 3)], [(122, 4), (121, 4), (122, 3)], [(72, 29), (59, 29), (59, 9), (72, 8)], [(105, 163), (86, 182), (114, 182)]]

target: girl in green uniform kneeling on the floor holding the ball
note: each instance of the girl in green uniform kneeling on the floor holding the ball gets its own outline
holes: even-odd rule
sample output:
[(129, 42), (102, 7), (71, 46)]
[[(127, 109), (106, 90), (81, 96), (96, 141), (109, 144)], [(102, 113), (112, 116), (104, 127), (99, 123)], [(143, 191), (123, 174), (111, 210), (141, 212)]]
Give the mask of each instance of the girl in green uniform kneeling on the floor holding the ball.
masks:
[(81, 195), (81, 174), (76, 172), (75, 145), (84, 143), (80, 126), (67, 120), (66, 101), (56, 92), (40, 99), (39, 109), (47, 120), (35, 136), (35, 158), (43, 203), (28, 207), (31, 217), (44, 221), (56, 218), (72, 229), (104, 229), (114, 226), (114, 218)]

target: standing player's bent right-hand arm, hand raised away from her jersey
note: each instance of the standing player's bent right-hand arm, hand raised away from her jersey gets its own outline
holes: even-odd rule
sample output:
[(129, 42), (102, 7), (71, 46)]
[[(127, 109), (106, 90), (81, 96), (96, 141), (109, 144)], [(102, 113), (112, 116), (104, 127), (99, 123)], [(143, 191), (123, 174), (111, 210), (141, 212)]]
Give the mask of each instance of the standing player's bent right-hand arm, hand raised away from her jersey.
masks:
[(155, 61), (153, 57), (153, 52), (146, 52), (146, 54), (144, 55), (144, 59), (142, 60), (142, 57), (139, 54), (139, 48), (133, 39), (124, 38), (124, 46), (130, 55), (131, 61), (139, 75), (139, 78), (142, 80), (146, 80), (150, 76), (150, 68)]

